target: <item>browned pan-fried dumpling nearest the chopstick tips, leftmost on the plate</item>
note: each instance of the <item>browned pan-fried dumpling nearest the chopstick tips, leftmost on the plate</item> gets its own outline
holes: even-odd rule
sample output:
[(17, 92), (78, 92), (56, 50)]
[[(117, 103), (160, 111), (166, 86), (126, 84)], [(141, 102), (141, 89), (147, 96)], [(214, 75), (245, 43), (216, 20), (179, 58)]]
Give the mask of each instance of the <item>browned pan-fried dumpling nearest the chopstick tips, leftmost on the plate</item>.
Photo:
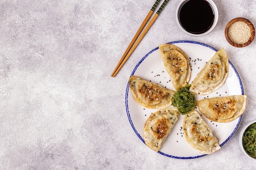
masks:
[(134, 99), (146, 108), (165, 108), (171, 105), (172, 94), (175, 92), (163, 86), (131, 76), (129, 86)]

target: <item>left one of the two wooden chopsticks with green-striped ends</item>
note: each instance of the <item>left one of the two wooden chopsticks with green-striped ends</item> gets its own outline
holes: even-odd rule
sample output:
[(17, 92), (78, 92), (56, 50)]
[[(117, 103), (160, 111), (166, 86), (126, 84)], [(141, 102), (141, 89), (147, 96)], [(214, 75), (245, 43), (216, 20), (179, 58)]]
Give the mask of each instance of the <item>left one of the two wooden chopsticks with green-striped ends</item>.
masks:
[(124, 52), (124, 55), (121, 57), (119, 63), (117, 64), (115, 70), (112, 73), (112, 77), (115, 74), (115, 72), (117, 71), (117, 69), (119, 68), (120, 64), (123, 62), (124, 58), (126, 57), (127, 53), (130, 51), (130, 49), (132, 48), (132, 45), (134, 44), (134, 42), (137, 40), (137, 38), (139, 37), (139, 34), (141, 33), (141, 31), (144, 29), (145, 25), (147, 24), (149, 18), (151, 17), (151, 15), (153, 14), (153, 12), (155, 11), (155, 8), (157, 7), (157, 5), (159, 4), (161, 0), (156, 0), (153, 7), (150, 9), (150, 11), (148, 12), (148, 15), (146, 16), (146, 18), (144, 19), (144, 21), (142, 22), (141, 26), (139, 27), (137, 33), (135, 34), (135, 36), (132, 38), (132, 41), (130, 42), (128, 48), (126, 49), (126, 51)]

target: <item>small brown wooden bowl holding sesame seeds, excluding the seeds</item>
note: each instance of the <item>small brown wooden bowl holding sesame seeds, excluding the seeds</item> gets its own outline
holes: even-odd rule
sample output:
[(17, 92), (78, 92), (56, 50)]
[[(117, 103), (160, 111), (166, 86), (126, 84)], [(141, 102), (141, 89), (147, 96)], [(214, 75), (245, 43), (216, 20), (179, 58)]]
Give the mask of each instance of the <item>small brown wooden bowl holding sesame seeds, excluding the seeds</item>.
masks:
[[(251, 29), (251, 37), (250, 37), (250, 39), (245, 44), (236, 44), (232, 40), (230, 40), (230, 38), (229, 38), (229, 34), (228, 34), (229, 26), (231, 24), (233, 24), (234, 22), (237, 22), (237, 21), (245, 22), (250, 27), (250, 29)], [(254, 37), (255, 37), (255, 29), (254, 29), (254, 26), (253, 26), (252, 22), (250, 22), (249, 20), (247, 20), (245, 18), (234, 18), (233, 20), (229, 21), (229, 23), (227, 23), (227, 26), (225, 28), (225, 37), (226, 37), (227, 42), (229, 42), (229, 44), (231, 44), (232, 46), (235, 46), (235, 47), (245, 47), (245, 46), (251, 44), (252, 40), (254, 39)]]

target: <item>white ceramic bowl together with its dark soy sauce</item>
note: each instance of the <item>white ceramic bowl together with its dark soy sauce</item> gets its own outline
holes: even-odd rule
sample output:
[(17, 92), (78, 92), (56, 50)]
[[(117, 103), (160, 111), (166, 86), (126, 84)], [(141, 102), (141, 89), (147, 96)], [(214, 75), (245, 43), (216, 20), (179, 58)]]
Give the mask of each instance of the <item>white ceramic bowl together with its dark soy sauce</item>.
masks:
[(212, 0), (182, 0), (176, 19), (180, 28), (193, 36), (211, 32), (218, 22), (218, 9)]

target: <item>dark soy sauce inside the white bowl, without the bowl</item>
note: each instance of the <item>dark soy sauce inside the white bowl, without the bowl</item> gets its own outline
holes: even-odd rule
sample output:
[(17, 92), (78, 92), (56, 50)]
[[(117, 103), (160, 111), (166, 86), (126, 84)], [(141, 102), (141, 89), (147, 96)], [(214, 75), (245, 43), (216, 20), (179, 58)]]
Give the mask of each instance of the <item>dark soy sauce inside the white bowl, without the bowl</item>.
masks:
[(214, 11), (206, 0), (188, 0), (180, 9), (179, 20), (189, 33), (204, 33), (213, 24)]

